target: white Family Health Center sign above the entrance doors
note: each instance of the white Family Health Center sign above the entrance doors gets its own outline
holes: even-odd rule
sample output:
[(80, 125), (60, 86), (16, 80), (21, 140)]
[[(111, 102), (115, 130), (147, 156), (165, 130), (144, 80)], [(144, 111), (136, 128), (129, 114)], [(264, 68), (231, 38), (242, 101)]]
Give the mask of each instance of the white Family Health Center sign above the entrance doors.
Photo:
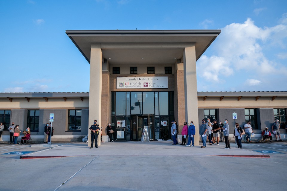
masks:
[(117, 89), (168, 88), (167, 76), (117, 77)]

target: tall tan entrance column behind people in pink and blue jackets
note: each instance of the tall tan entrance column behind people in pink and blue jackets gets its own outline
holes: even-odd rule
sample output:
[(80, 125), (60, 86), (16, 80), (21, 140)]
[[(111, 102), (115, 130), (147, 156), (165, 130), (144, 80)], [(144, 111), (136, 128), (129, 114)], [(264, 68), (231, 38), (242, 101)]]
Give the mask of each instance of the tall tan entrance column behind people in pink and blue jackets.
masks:
[(188, 123), (193, 121), (196, 130), (194, 145), (199, 145), (195, 43), (185, 44), (183, 64), (185, 119)]

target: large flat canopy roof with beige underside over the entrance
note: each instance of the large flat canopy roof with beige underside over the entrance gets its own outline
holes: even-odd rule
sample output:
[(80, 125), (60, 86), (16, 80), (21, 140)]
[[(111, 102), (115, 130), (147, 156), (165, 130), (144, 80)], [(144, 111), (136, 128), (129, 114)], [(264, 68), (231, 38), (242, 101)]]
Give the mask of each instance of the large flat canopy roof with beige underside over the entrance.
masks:
[(185, 43), (195, 43), (196, 61), (221, 30), (66, 30), (86, 60), (91, 44), (100, 43), (111, 64), (173, 64)]

